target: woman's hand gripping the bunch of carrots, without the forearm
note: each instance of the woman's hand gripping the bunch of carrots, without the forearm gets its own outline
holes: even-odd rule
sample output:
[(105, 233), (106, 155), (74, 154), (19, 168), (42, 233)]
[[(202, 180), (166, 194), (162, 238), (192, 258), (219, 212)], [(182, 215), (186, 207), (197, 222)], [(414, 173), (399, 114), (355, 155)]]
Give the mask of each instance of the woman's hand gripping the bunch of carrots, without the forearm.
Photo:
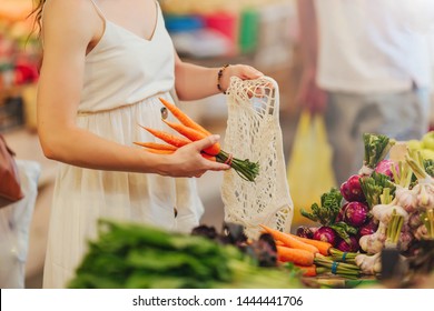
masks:
[(200, 151), (219, 141), (219, 136), (209, 136), (179, 148), (174, 154), (167, 156), (170, 160), (165, 174), (171, 177), (201, 177), (207, 171), (225, 171), (228, 164), (205, 159)]

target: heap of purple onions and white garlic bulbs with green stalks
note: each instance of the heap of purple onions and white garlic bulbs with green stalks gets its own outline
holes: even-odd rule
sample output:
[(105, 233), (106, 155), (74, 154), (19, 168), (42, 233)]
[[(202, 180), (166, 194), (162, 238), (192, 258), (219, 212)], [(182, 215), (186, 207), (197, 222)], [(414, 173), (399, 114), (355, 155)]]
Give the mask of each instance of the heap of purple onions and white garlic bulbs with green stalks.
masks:
[[(434, 132), (424, 139), (431, 137)], [(338, 190), (323, 193), (310, 213), (300, 211), (318, 227), (302, 225), (296, 234), (331, 244), (326, 252), (315, 254), (315, 275), (381, 278), (382, 261), (387, 260), (383, 254), (391, 251), (398, 253), (396, 264), (410, 269), (408, 273), (434, 270), (434, 252), (428, 247), (434, 247), (434, 153), (400, 142), (406, 148), (396, 150), (404, 151), (394, 150), (395, 158), (386, 159), (395, 140), (373, 133), (363, 138), (365, 157), (358, 173)]]

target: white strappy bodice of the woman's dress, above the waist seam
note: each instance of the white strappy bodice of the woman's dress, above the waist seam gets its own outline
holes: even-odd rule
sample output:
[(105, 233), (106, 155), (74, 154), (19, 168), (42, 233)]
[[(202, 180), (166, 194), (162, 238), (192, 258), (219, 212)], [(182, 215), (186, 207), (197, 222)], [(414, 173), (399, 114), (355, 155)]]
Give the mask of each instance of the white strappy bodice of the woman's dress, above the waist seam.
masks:
[(142, 38), (110, 21), (93, 2), (105, 29), (86, 56), (79, 112), (111, 110), (170, 91), (175, 80), (175, 51), (160, 7), (150, 38)]

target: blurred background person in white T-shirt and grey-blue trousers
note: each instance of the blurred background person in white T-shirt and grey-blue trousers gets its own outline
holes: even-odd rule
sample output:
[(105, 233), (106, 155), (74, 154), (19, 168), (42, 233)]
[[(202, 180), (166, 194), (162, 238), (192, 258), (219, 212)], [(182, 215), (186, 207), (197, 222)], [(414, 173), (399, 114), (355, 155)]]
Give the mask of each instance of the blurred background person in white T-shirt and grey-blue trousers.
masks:
[(341, 184), (363, 165), (364, 132), (405, 141), (427, 131), (434, 3), (298, 0), (297, 6), (304, 53), (297, 101), (324, 113)]

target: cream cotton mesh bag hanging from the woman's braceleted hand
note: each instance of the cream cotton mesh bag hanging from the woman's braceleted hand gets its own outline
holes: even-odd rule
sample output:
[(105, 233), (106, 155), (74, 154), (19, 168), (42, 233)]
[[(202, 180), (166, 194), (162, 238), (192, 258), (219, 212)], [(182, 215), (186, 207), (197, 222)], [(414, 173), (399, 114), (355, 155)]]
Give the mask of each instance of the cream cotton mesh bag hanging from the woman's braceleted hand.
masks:
[(225, 171), (225, 221), (243, 224), (250, 239), (260, 234), (259, 224), (289, 232), (294, 211), (286, 179), (277, 82), (269, 77), (233, 77), (227, 108), (224, 149), (238, 159), (258, 162), (259, 174), (251, 182), (233, 169)]

